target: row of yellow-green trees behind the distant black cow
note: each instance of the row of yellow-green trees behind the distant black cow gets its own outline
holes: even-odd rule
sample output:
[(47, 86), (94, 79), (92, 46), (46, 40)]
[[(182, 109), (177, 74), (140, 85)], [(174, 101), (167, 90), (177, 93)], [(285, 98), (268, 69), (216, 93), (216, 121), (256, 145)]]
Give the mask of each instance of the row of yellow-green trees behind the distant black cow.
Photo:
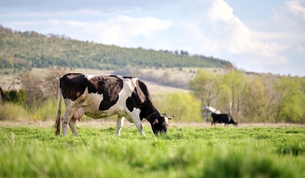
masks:
[(190, 89), (211, 106), (244, 122), (305, 123), (305, 78), (272, 74), (225, 75), (199, 70)]

